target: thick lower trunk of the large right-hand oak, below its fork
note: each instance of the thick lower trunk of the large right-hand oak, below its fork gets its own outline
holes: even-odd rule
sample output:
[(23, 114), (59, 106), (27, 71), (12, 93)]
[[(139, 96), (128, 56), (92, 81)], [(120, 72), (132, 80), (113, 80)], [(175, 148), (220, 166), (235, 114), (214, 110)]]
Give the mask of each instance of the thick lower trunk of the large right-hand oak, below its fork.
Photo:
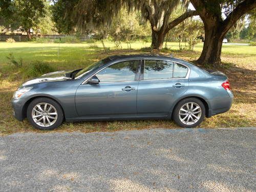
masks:
[(225, 36), (219, 25), (205, 26), (205, 39), (201, 56), (197, 60), (203, 65), (219, 65), (221, 63), (222, 41)]

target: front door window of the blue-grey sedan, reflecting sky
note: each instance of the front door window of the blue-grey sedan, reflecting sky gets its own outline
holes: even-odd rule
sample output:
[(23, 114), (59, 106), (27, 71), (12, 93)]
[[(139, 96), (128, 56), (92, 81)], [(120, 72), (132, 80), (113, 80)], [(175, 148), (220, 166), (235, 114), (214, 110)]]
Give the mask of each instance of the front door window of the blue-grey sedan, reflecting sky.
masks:
[(103, 69), (96, 74), (100, 82), (133, 81), (139, 61), (124, 61)]

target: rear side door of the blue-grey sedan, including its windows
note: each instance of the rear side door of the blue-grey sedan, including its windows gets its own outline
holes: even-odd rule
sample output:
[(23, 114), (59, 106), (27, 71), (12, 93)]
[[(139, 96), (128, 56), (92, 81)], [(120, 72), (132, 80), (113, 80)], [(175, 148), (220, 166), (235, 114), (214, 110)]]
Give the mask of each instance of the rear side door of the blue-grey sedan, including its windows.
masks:
[(188, 87), (188, 67), (170, 60), (142, 61), (137, 94), (137, 112), (141, 116), (167, 116), (175, 100)]

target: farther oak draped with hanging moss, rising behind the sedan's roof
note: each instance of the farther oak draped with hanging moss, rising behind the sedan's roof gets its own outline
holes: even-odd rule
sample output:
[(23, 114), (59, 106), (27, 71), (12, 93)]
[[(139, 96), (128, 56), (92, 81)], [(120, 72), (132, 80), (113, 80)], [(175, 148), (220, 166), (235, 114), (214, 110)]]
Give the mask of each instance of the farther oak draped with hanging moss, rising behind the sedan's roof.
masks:
[[(55, 22), (65, 30), (70, 30), (72, 24), (77, 28), (86, 29), (88, 26), (110, 25), (121, 7), (130, 12), (139, 10), (141, 17), (151, 24), (152, 48), (159, 50), (162, 49), (164, 37), (169, 30), (186, 18), (197, 15), (196, 11), (184, 9), (183, 14), (169, 21), (170, 15), (181, 3), (183, 7), (188, 5), (186, 0), (58, 0), (55, 3)], [(68, 26), (65, 20), (68, 21)]]

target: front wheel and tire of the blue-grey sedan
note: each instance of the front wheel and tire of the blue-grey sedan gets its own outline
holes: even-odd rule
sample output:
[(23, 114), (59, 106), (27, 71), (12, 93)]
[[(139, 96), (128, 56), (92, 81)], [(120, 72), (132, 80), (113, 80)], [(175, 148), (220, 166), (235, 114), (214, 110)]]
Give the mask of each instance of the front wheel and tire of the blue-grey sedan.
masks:
[(59, 103), (47, 97), (39, 97), (29, 103), (27, 119), (39, 130), (53, 130), (63, 122), (64, 114)]

